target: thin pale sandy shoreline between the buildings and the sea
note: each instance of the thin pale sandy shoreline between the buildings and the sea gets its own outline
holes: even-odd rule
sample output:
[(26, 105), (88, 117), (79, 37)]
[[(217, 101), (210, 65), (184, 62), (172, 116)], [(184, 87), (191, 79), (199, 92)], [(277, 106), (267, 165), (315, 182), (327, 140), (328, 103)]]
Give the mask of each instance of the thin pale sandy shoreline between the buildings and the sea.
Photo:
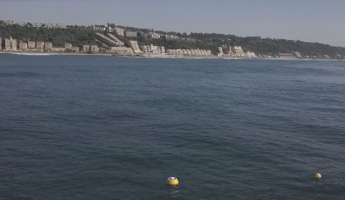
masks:
[(65, 55), (65, 56), (107, 56), (107, 57), (128, 57), (128, 58), (150, 58), (150, 59), (225, 59), (225, 60), (276, 60), (276, 61), (345, 61), (344, 59), (282, 59), (282, 58), (263, 58), (263, 57), (190, 57), (190, 56), (173, 56), (173, 55), (161, 55), (161, 54), (144, 54), (142, 56), (117, 56), (111, 53), (81, 53), (81, 52), (6, 52), (0, 51), (0, 54), (17, 54), (28, 56), (50, 56), (50, 55)]

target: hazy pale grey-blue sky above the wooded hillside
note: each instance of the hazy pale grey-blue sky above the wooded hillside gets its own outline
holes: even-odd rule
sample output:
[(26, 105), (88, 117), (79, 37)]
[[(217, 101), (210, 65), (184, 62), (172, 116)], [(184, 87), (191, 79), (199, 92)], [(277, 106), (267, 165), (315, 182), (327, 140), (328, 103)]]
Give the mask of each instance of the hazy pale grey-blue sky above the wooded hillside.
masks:
[(317, 41), (345, 47), (344, 0), (0, 0), (0, 19)]

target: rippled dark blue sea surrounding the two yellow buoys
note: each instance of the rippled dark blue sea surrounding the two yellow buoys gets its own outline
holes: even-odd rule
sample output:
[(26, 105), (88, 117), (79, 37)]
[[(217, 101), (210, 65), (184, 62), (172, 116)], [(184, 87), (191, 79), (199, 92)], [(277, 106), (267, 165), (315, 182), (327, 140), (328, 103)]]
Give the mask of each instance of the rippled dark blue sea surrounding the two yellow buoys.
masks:
[(344, 199), (345, 62), (0, 54), (0, 133), (0, 199)]

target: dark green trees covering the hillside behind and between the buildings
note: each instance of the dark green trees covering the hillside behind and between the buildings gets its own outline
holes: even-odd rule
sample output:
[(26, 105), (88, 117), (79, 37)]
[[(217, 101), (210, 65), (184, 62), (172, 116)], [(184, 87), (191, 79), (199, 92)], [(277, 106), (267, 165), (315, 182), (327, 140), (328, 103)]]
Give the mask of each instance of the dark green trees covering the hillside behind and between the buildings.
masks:
[[(109, 23), (108, 26), (115, 27), (115, 24)], [(152, 32), (148, 28), (134, 28), (118, 26), (130, 31), (143, 32), (144, 34)], [(279, 52), (291, 53), (293, 51), (300, 52), (303, 56), (322, 57), (329, 55), (335, 57), (336, 54), (345, 56), (345, 48), (329, 46), (322, 43), (311, 43), (304, 41), (292, 41), (286, 39), (270, 39), (261, 37), (237, 37), (231, 34), (208, 34), (192, 32), (189, 35), (179, 32), (163, 32), (155, 31), (161, 34), (176, 34), (181, 38), (195, 39), (195, 41), (173, 40), (173, 39), (150, 39), (148, 37), (138, 37), (139, 46), (150, 45), (164, 46), (166, 49), (200, 49), (211, 50), (213, 54), (217, 54), (219, 46), (242, 46), (243, 50), (255, 52), (261, 55), (275, 56)], [(83, 44), (97, 44), (95, 40), (95, 32), (91, 30), (79, 29), (78, 26), (70, 26), (70, 28), (31, 28), (21, 26), (5, 26), (0, 21), (0, 37), (22, 39), (23, 41), (51, 41), (54, 46), (63, 46), (64, 43), (72, 43), (73, 46), (82, 46)], [(126, 46), (129, 46), (129, 38), (121, 39)], [(99, 44), (99, 43), (98, 43)], [(100, 45), (100, 44), (99, 44)], [(225, 50), (225, 52), (227, 52)]]

